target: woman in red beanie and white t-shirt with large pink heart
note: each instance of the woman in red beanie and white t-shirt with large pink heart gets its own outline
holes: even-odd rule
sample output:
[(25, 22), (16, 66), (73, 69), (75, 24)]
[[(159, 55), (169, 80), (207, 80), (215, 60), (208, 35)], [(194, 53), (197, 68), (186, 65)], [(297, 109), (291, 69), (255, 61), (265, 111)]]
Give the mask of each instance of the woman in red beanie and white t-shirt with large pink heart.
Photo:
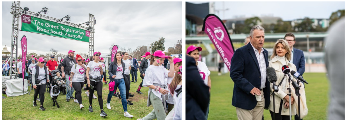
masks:
[(79, 109), (83, 109), (84, 106), (82, 105), (82, 87), (84, 85), (84, 72), (87, 70), (86, 65), (82, 64), (82, 57), (81, 55), (76, 55), (77, 64), (74, 64), (71, 67), (71, 74), (70, 79), (72, 82), (70, 82), (70, 87), (74, 86), (75, 89), (75, 100), (74, 102), (79, 104)]

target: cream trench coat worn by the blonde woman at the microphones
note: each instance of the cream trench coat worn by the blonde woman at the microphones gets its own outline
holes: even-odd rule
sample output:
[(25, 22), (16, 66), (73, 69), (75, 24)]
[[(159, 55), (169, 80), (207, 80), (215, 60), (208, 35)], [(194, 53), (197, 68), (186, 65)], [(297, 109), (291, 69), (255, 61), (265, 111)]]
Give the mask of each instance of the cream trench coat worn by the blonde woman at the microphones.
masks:
[[(289, 67), (290, 70), (296, 71), (296, 66), (293, 63), (290, 63), (286, 58), (286, 63)], [(281, 82), (281, 80), (283, 79), (283, 77), (285, 76), (285, 74), (282, 72), (281, 68), (282, 68), (282, 63), (277, 59), (277, 57), (273, 57), (270, 61), (269, 61), (269, 67), (272, 67), (275, 69), (276, 71), (276, 75), (277, 75), (277, 81), (276, 84), (279, 85), (279, 83)], [(288, 76), (286, 76), (288, 78)], [(293, 78), (292, 75), (290, 75), (290, 77), (293, 79), (294, 82), (297, 82), (296, 79)], [(288, 79), (285, 78), (285, 80), (283, 80), (283, 82), (287, 82), (286, 86), (280, 85), (278, 87), (278, 92), (275, 92), (275, 113), (279, 113), (279, 107), (280, 107), (280, 103), (281, 100), (284, 99), (284, 97), (289, 93), (289, 91), (287, 90), (287, 88), (289, 88), (289, 83), (288, 83)], [(282, 82), (282, 84), (284, 84)], [(273, 96), (272, 96), (272, 83), (270, 83), (270, 105), (269, 105), (269, 109), (271, 111), (273, 111)], [(302, 84), (302, 82), (300, 82), (301, 86), (304, 86)], [(286, 87), (285, 91), (282, 91), (282, 88)], [(294, 104), (291, 105), (291, 115), (296, 115), (297, 111), (298, 111), (298, 97), (295, 94), (295, 89), (293, 87), (293, 85), (291, 85), (290, 82), (290, 87), (291, 87), (291, 96), (294, 97)], [(306, 96), (305, 96), (305, 89), (304, 87), (300, 88), (300, 111), (301, 111), (301, 118), (304, 118), (307, 115), (307, 105), (306, 105)], [(283, 100), (283, 104), (286, 102), (286, 100)], [(289, 115), (289, 110), (284, 108), (284, 105), (282, 105), (282, 112), (281, 115)]]

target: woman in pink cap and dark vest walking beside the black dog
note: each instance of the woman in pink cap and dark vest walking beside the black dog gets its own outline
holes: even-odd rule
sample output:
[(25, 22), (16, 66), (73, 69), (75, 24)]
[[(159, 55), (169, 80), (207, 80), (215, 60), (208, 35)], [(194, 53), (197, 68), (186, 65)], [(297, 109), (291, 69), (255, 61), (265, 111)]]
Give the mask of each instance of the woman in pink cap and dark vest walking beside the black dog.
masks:
[(37, 63), (36, 67), (32, 71), (32, 83), (34, 88), (34, 106), (36, 105), (36, 98), (37, 95), (40, 93), (40, 110), (44, 111), (43, 102), (44, 102), (44, 92), (46, 88), (46, 82), (49, 82), (49, 76), (48, 76), (48, 68), (44, 67), (44, 60), (43, 58), (39, 58), (39, 62)]

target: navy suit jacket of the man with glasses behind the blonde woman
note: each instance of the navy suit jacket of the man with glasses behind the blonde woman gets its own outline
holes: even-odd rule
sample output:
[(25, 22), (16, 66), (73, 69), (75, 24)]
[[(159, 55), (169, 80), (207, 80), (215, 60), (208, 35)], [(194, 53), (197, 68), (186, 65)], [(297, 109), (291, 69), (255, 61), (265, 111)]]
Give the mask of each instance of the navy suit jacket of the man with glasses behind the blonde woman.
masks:
[(294, 50), (294, 56), (293, 56), (293, 62), (294, 65), (296, 66), (296, 71), (300, 73), (301, 76), (303, 76), (305, 72), (305, 57), (304, 57), (304, 52), (299, 49)]

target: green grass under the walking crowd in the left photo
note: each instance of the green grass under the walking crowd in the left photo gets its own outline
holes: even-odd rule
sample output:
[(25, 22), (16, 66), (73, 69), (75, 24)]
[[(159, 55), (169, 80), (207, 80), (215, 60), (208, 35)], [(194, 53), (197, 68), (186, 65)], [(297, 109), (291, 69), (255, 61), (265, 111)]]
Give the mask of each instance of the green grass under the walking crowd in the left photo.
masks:
[[(131, 74), (130, 74), (131, 75)], [(107, 109), (107, 95), (109, 93), (108, 85), (103, 85), (102, 98), (103, 98), (103, 108), (108, 116), (101, 117), (100, 116), (100, 106), (98, 99), (93, 99), (93, 112), (88, 111), (88, 97), (82, 90), (82, 104), (85, 106), (82, 110), (79, 109), (78, 103), (75, 103), (73, 99), (70, 99), (69, 102), (66, 102), (66, 95), (62, 93), (58, 96), (58, 104), (60, 108), (57, 106), (53, 106), (53, 102), (51, 100), (50, 94), (45, 93), (45, 100), (43, 106), (45, 107), (45, 111), (39, 110), (40, 101), (37, 102), (37, 106), (33, 106), (33, 95), (34, 90), (31, 90), (31, 93), (15, 96), (15, 97), (7, 97), (6, 99), (2, 99), (2, 120), (136, 120), (137, 118), (143, 118), (148, 113), (153, 110), (152, 105), (147, 107), (147, 97), (148, 97), (148, 88), (143, 87), (141, 91), (143, 94), (138, 94), (135, 91), (137, 90), (139, 84), (142, 80), (139, 77), (138, 72), (138, 81), (136, 83), (131, 82), (130, 84), (130, 93), (135, 94), (134, 97), (129, 98), (129, 100), (133, 101), (134, 105), (128, 105), (128, 112), (134, 115), (133, 118), (127, 118), (124, 116), (124, 111), (122, 107), (121, 100), (117, 97), (112, 97), (111, 99), (111, 110)], [(107, 79), (109, 81), (109, 79)], [(131, 80), (131, 76), (130, 76)], [(30, 88), (29, 88), (30, 89)], [(29, 90), (28, 90), (29, 91)], [(119, 91), (119, 90), (117, 90)], [(75, 92), (73, 93), (75, 97)], [(95, 91), (94, 93), (97, 96)]]

